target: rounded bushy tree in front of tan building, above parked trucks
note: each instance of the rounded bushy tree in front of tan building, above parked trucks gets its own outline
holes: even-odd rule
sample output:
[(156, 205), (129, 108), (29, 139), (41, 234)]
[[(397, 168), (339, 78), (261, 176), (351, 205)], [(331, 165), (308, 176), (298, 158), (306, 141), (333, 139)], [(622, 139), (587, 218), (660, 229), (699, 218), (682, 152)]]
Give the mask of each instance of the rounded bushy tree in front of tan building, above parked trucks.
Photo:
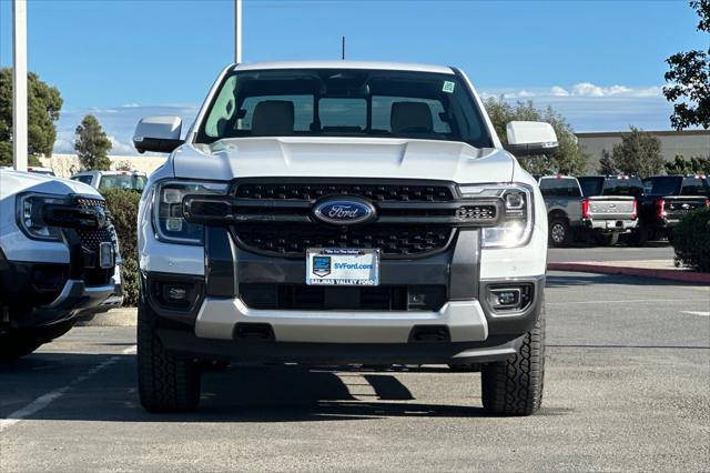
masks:
[[(605, 160), (606, 158), (606, 160)], [(602, 169), (613, 172), (602, 172), (605, 174), (615, 174), (622, 172), (625, 174), (639, 175), (647, 178), (655, 175), (663, 170), (663, 155), (661, 154), (661, 141), (638, 128), (631, 127), (631, 131), (621, 138), (619, 144), (615, 144), (611, 153), (607, 150), (602, 152)]]

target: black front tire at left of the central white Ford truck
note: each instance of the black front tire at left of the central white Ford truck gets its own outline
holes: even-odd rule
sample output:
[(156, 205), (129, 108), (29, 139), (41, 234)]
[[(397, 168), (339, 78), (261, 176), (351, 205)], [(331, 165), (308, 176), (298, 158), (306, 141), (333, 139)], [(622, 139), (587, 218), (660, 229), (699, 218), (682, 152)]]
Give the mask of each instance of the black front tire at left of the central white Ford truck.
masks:
[(166, 351), (155, 333), (155, 316), (139, 301), (138, 386), (149, 412), (191, 412), (200, 402), (200, 369), (192, 358)]

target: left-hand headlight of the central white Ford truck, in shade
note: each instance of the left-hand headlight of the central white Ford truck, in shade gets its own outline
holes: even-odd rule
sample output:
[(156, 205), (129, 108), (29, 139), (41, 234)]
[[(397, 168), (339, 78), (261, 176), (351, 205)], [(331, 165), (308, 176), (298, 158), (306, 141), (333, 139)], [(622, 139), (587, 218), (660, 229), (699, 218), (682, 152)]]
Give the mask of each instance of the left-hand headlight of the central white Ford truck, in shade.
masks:
[(182, 198), (186, 194), (225, 194), (226, 183), (162, 181), (155, 184), (153, 224), (158, 239), (170, 243), (202, 244), (204, 227), (185, 220)]

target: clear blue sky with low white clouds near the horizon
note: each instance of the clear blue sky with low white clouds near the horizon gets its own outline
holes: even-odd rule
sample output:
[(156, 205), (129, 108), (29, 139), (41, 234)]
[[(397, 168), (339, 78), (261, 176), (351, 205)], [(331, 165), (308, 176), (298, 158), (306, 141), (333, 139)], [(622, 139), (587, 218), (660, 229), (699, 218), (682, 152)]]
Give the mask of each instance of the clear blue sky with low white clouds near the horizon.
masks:
[[(12, 64), (0, 0), (0, 67)], [(28, 64), (64, 105), (54, 152), (93, 113), (112, 153), (138, 120), (190, 123), (233, 60), (233, 0), (29, 0)], [(666, 58), (708, 49), (684, 0), (244, 0), (244, 62), (347, 59), (464, 70), (483, 97), (552, 105), (576, 131), (670, 129)], [(184, 125), (186, 129), (187, 125)]]

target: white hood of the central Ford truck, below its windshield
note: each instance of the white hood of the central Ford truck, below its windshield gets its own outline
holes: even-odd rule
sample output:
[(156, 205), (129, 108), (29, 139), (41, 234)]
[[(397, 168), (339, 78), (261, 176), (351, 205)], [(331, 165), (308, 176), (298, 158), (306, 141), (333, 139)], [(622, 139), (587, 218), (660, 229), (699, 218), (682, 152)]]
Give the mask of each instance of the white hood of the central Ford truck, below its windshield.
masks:
[(176, 178), (248, 177), (435, 179), (508, 182), (515, 159), (504, 150), (432, 140), (241, 138), (187, 144), (173, 154)]

